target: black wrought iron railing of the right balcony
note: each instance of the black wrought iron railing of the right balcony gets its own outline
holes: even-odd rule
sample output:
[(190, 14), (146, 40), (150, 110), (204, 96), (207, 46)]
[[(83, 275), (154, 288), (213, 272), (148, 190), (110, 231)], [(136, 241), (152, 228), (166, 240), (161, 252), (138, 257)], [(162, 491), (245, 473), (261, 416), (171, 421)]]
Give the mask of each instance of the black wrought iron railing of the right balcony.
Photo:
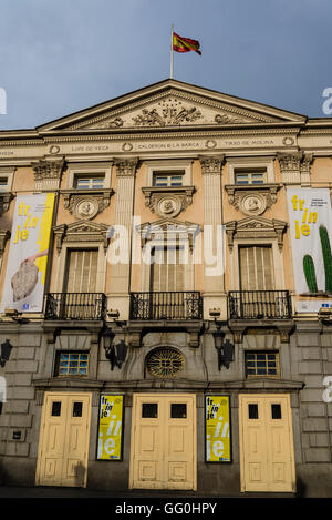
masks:
[(288, 290), (232, 290), (228, 293), (230, 319), (290, 319)]

